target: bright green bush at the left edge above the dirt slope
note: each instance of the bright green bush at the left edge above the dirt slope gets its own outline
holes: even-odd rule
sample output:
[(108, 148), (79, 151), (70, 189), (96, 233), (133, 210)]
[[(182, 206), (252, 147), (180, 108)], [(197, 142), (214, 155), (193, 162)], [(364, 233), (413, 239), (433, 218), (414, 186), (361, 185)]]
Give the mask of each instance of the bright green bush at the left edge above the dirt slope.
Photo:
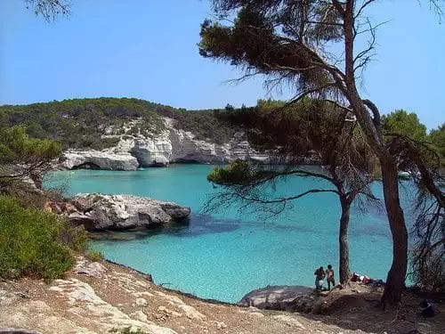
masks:
[(38, 208), (23, 208), (0, 196), (0, 277), (61, 277), (85, 249), (86, 232)]

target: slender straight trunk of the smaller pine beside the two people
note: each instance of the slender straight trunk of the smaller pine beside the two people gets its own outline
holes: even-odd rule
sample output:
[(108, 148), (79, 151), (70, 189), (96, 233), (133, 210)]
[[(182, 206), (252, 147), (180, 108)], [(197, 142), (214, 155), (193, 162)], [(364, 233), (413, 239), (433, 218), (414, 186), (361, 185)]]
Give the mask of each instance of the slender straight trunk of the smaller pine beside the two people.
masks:
[(351, 203), (344, 198), (340, 199), (342, 205), (342, 216), (340, 217), (340, 232), (338, 234), (338, 241), (340, 245), (340, 264), (339, 264), (339, 278), (340, 283), (344, 284), (349, 280), (349, 244), (348, 244), (348, 226)]

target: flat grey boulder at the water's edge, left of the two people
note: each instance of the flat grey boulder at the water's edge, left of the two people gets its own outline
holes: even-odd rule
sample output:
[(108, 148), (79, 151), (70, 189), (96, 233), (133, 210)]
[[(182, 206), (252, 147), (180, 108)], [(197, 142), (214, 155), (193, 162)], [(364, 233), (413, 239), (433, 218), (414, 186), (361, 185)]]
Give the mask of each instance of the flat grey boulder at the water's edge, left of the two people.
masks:
[(239, 305), (268, 310), (295, 311), (298, 300), (301, 297), (312, 295), (312, 293), (312, 288), (299, 285), (268, 285), (263, 289), (255, 289), (247, 293), (239, 301)]

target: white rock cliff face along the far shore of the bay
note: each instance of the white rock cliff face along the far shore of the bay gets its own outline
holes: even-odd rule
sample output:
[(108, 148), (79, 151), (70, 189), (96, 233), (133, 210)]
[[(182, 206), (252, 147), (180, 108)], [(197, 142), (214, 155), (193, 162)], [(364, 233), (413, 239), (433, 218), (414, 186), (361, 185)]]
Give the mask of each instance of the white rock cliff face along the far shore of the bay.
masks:
[(270, 155), (253, 150), (242, 134), (220, 145), (198, 140), (195, 134), (174, 127), (171, 118), (165, 118), (165, 123), (166, 130), (160, 134), (122, 135), (117, 146), (108, 150), (67, 151), (63, 153), (61, 166), (134, 170), (172, 162), (228, 163), (236, 159), (271, 162)]

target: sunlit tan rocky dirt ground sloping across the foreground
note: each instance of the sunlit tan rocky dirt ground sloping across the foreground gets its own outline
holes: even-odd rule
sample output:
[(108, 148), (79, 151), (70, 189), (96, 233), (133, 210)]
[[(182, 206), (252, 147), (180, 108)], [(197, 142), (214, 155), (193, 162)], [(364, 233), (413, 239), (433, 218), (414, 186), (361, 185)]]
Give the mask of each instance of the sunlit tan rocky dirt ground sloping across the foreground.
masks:
[(0, 282), (0, 329), (41, 333), (109, 333), (127, 327), (159, 334), (405, 333), (414, 329), (440, 333), (445, 324), (445, 311), (419, 322), (416, 315), (394, 318), (369, 305), (336, 307), (336, 313), (316, 316), (214, 304), (158, 287), (146, 275), (123, 266), (84, 258), (64, 280)]

